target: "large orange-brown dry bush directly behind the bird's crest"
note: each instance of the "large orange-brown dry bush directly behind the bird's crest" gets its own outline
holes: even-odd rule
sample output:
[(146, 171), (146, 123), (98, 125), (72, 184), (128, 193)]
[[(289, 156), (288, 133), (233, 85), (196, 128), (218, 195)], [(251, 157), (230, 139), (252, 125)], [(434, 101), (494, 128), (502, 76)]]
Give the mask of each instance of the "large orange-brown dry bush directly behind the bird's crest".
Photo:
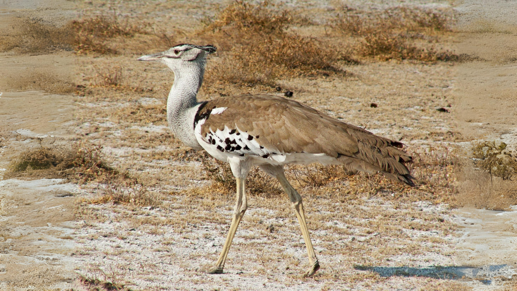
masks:
[[(203, 34), (216, 40), (222, 60), (209, 68), (206, 84), (272, 86), (277, 78), (336, 74), (336, 60), (349, 60), (339, 50), (326, 48), (313, 38), (287, 32), (290, 13), (274, 10), (268, 2), (258, 5), (234, 2), (214, 20), (205, 21)], [(217, 78), (217, 79), (216, 79)]]

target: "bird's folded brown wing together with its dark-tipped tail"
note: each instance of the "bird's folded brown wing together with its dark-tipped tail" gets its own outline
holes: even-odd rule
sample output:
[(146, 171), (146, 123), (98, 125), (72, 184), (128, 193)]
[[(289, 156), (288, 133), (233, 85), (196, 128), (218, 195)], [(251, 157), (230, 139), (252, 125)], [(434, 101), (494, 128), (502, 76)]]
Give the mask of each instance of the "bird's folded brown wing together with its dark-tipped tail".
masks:
[[(210, 114), (214, 108), (226, 108)], [(412, 184), (404, 166), (411, 157), (403, 144), (335, 120), (294, 100), (269, 95), (238, 95), (208, 101), (199, 115), (207, 116), (201, 135), (224, 127), (245, 132), (272, 152), (324, 153), (349, 168), (381, 171)], [(402, 177), (399, 177), (402, 176)], [(390, 177), (394, 178), (394, 177)]]

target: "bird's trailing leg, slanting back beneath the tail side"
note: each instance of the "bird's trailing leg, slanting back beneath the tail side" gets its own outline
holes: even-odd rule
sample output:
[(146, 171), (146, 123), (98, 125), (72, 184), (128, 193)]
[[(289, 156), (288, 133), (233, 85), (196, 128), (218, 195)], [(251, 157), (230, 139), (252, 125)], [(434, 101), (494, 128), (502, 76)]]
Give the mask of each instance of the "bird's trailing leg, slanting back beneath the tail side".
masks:
[(309, 237), (309, 229), (307, 228), (307, 221), (305, 219), (305, 212), (303, 211), (303, 203), (301, 202), (301, 196), (285, 178), (282, 167), (261, 165), (260, 168), (264, 170), (266, 173), (270, 174), (271, 176), (277, 178), (278, 182), (280, 182), (280, 185), (282, 185), (285, 192), (287, 193), (287, 196), (289, 197), (289, 200), (291, 201), (291, 207), (296, 212), (296, 217), (298, 217), (298, 222), (300, 224), (301, 234), (303, 236), (303, 240), (305, 241), (305, 246), (307, 247), (307, 253), (309, 255), (309, 264), (311, 264), (309, 271), (307, 271), (307, 273), (303, 277), (312, 277), (312, 275), (314, 275), (316, 271), (320, 269), (320, 263), (318, 263), (316, 253), (314, 252), (314, 247), (312, 246), (311, 238)]

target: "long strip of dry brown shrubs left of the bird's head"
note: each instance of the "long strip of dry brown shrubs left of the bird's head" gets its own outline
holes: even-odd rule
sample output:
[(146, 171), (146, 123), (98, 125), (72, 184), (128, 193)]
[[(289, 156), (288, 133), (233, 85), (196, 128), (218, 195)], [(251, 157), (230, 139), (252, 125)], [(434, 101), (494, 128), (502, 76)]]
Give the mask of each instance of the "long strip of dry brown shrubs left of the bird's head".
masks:
[(11, 35), (0, 36), (0, 52), (18, 48), (29, 54), (60, 50), (73, 50), (77, 54), (142, 53), (149, 47), (170, 47), (175, 44), (174, 39), (172, 35), (156, 32), (148, 23), (119, 20), (115, 13), (63, 25), (49, 24), (40, 18), (20, 18), (14, 23)]

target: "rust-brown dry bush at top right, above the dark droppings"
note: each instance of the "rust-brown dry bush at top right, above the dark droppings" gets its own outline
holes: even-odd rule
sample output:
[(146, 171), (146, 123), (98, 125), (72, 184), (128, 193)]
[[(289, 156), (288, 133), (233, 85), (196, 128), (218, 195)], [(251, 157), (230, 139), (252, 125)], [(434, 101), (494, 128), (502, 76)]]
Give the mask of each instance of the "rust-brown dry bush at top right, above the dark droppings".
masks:
[(459, 61), (459, 56), (452, 52), (415, 43), (415, 40), (433, 43), (437, 41), (437, 34), (450, 32), (454, 20), (452, 12), (407, 7), (368, 14), (351, 11), (353, 13), (347, 11), (344, 16), (338, 16), (334, 27), (358, 39), (355, 51), (360, 56), (381, 61)]

